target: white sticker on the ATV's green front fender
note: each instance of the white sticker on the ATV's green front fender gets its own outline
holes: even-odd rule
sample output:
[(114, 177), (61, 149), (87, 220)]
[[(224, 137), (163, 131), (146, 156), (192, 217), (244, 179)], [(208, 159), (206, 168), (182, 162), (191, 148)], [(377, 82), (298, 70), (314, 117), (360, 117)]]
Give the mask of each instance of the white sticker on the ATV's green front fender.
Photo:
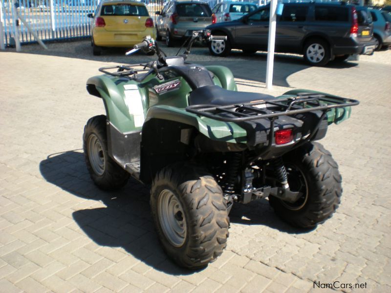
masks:
[(144, 108), (142, 97), (136, 84), (125, 84), (125, 104), (128, 106), (129, 114), (133, 115), (134, 126), (141, 127), (144, 124)]

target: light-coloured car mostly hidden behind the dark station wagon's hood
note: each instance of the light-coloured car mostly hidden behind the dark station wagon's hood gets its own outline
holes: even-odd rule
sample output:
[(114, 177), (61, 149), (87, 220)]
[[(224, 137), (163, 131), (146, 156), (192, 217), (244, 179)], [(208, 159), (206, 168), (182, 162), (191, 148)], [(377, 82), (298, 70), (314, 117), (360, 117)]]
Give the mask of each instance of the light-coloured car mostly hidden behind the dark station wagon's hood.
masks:
[(257, 8), (257, 4), (251, 2), (223, 1), (217, 3), (212, 12), (216, 16), (216, 22), (223, 22), (237, 20)]

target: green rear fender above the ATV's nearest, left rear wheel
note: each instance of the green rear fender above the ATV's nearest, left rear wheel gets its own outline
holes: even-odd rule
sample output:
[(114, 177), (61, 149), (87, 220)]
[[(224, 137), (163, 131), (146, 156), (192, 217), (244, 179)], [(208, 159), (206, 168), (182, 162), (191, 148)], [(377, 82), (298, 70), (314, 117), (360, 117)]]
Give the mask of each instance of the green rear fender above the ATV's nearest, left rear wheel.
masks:
[(207, 117), (199, 117), (183, 108), (167, 105), (152, 106), (145, 123), (151, 119), (174, 121), (195, 127), (200, 133), (214, 141), (245, 144), (247, 132), (235, 123), (222, 122)]

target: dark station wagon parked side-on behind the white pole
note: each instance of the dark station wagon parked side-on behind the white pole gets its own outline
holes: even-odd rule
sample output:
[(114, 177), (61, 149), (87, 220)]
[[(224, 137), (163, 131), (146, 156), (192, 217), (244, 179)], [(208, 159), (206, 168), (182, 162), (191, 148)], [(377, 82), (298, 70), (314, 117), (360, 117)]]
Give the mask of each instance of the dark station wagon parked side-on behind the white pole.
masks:
[[(352, 54), (373, 54), (373, 24), (365, 9), (343, 2), (279, 3), (275, 50), (303, 54), (308, 63), (317, 66)], [(210, 53), (227, 56), (231, 49), (244, 53), (267, 50), (269, 14), (266, 5), (237, 21), (208, 26), (212, 35), (227, 36), (226, 41), (209, 42)]]

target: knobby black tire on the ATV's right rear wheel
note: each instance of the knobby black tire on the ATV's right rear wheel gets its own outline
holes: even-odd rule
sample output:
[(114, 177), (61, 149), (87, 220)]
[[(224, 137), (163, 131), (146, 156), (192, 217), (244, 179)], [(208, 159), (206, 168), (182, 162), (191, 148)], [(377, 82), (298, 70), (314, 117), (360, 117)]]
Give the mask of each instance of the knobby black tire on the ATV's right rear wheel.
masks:
[[(276, 214), (288, 224), (300, 228), (313, 228), (325, 222), (338, 208), (342, 195), (342, 177), (330, 152), (319, 143), (307, 143), (286, 154), (283, 161), (285, 166), (291, 166), (291, 172), (296, 168), (304, 175), (307, 197), (305, 201), (299, 199), (303, 205), (295, 206), (269, 196)], [(291, 190), (298, 191), (292, 188), (295, 186), (292, 178), (295, 176), (290, 176), (288, 169)]]

